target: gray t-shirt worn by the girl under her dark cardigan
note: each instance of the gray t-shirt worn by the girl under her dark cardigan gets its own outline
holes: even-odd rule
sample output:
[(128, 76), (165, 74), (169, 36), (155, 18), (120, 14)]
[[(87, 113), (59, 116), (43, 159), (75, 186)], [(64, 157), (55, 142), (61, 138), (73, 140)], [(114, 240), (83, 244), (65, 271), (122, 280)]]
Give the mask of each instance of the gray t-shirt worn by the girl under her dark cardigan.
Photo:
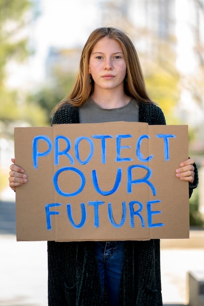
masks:
[(135, 99), (118, 109), (101, 109), (91, 97), (79, 108), (80, 123), (112, 121), (138, 122), (138, 104)]

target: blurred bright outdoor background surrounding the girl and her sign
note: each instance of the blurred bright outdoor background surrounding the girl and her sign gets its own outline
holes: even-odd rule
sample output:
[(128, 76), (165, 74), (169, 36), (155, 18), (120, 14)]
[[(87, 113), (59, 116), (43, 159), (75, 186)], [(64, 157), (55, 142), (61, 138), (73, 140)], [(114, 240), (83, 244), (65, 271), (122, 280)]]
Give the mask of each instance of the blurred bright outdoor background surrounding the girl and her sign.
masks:
[[(46, 245), (15, 242), (15, 195), (8, 187), (14, 127), (50, 125), (50, 111), (72, 88), (82, 47), (91, 31), (99, 26), (116, 26), (129, 34), (148, 92), (163, 110), (167, 124), (188, 125), (189, 156), (195, 159), (200, 176), (199, 187), (190, 199), (192, 237), (196, 236), (193, 241), (198, 238), (198, 242), (193, 244), (197, 253), (192, 253), (189, 261), (200, 263), (198, 258), (204, 255), (204, 0), (0, 0), (0, 245), (4, 246), (4, 252), (0, 252), (0, 268), (4, 272), (2, 275), (0, 270), (4, 284), (1, 306), (46, 305)], [(165, 243), (162, 254), (178, 258), (178, 244), (173, 245), (174, 253), (172, 245), (167, 253), (169, 245)], [(183, 247), (185, 257), (190, 244), (184, 243)], [(16, 252), (16, 264), (12, 250)], [(14, 296), (23, 294), (17, 293), (20, 285), (29, 295), (26, 278), (23, 284), (19, 279), (30, 268), (19, 264), (23, 256), (32, 257), (33, 266), (44, 271), (42, 277), (38, 273), (38, 284), (40, 279), (43, 285), (37, 286), (35, 294), (41, 296), (38, 290), (42, 290), (44, 302), (39, 297), (40, 302), (29, 304), (20, 298), (17, 304), (11, 297), (11, 280), (16, 288)], [(3, 263), (5, 260), (8, 264)], [(13, 277), (9, 277), (9, 267)], [(184, 283), (187, 269), (182, 270)], [(18, 276), (15, 278), (14, 274)], [(167, 274), (163, 280), (167, 280)], [(8, 296), (6, 290), (10, 290)], [(183, 283), (182, 290), (176, 301), (188, 303)], [(168, 299), (172, 300), (166, 296)]]

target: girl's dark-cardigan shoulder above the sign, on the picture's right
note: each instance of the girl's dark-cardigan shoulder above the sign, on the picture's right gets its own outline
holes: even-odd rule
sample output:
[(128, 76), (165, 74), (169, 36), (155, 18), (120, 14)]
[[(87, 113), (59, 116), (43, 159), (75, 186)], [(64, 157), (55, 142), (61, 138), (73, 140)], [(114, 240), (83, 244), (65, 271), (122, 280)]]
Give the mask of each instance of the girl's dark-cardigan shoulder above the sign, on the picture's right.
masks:
[(153, 103), (139, 103), (139, 121), (149, 125), (165, 125), (163, 111)]

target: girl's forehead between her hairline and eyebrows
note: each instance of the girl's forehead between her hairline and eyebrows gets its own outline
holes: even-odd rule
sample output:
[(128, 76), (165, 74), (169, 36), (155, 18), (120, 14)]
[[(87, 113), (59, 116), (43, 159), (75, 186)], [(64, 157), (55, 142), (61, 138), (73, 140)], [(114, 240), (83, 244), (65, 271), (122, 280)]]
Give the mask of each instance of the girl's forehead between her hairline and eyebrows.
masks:
[(122, 47), (115, 39), (108, 38), (108, 36), (101, 38), (92, 49), (92, 52), (122, 52)]

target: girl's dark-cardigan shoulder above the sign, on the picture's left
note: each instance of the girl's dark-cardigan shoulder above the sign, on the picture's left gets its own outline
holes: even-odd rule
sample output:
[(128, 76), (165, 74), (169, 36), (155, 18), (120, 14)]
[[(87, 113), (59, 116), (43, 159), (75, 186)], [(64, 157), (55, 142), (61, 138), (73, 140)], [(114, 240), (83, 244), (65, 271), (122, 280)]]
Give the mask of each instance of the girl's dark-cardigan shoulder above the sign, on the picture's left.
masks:
[(63, 104), (59, 109), (57, 109), (53, 115), (51, 125), (66, 123), (79, 123), (78, 108), (70, 103)]

